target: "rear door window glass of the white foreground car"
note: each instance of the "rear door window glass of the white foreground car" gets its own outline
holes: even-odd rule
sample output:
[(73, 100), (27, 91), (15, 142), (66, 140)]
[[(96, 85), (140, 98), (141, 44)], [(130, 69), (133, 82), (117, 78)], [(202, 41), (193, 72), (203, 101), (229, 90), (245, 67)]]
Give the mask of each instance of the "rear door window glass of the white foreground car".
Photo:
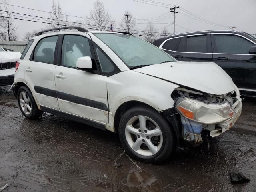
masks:
[(40, 40), (34, 50), (34, 61), (53, 63), (58, 36), (46, 37)]

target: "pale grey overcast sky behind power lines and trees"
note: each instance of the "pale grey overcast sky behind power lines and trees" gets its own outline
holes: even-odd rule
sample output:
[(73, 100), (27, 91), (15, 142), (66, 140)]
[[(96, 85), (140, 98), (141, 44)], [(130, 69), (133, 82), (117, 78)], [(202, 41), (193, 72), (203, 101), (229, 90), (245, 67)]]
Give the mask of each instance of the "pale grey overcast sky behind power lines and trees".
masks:
[[(112, 20), (115, 21), (120, 21), (126, 10), (129, 10), (132, 16), (138, 19), (154, 18), (170, 11), (169, 8), (167, 8), (169, 6), (166, 5), (162, 5), (164, 7), (160, 7), (161, 5), (159, 4), (159, 6), (154, 6), (141, 3), (145, 2), (143, 0), (138, 1), (140, 2), (132, 0), (102, 0), (102, 2), (105, 4), (105, 8), (111, 14)], [(180, 9), (176, 10), (179, 13), (176, 14), (175, 17), (175, 23), (177, 24), (175, 26), (175, 33), (189, 32), (190, 30), (228, 30), (228, 26), (236, 26), (236, 30), (245, 31), (250, 34), (256, 34), (256, 0), (154, 1), (181, 7)], [(89, 16), (89, 12), (93, 6), (94, 0), (59, 0), (59, 2), (64, 13), (74, 16), (86, 17)], [(9, 4), (34, 8), (38, 10), (51, 11), (52, 0), (10, 0)], [(223, 26), (208, 24), (208, 21), (202, 21), (200, 18), (192, 16), (192, 14), (186, 12), (184, 9), (191, 12), (192, 14), (195, 14), (196, 16), (199, 16), (200, 18)], [(45, 12), (38, 12), (18, 7), (14, 7), (13, 12), (49, 17), (49, 14)], [(69, 20), (71, 21), (76, 21), (78, 19), (79, 18), (69, 17)], [(146, 21), (149, 22), (150, 20)], [(86, 21), (84, 20), (84, 22)], [(146, 27), (147, 23), (143, 23), (140, 20), (136, 20), (136, 22), (137, 29), (143, 30)], [(170, 25), (170, 23), (173, 22), (173, 15), (169, 17), (167, 16), (164, 20), (161, 20), (160, 17), (159, 20), (152, 20), (152, 22), (154, 23), (156, 29), (167, 26), (168, 31), (171, 33), (173, 32), (173, 25)], [(25, 32), (29, 32), (34, 29), (38, 30), (45, 26), (45, 24), (42, 23), (21, 20), (15, 20), (15, 23), (18, 24), (19, 40), (22, 40)], [(118, 24), (115, 24), (115, 26), (119, 28)], [(158, 32), (161, 31), (162, 29), (158, 30)]]

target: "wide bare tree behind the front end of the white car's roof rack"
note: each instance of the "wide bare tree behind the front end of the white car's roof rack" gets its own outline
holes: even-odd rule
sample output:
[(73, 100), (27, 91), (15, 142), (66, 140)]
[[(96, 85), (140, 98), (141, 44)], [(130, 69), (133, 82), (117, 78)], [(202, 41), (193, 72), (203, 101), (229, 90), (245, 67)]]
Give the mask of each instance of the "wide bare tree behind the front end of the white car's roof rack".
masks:
[(91, 28), (96, 30), (109, 30), (111, 16), (102, 1), (96, 0), (93, 4), (93, 8), (90, 10), (90, 18), (87, 19)]

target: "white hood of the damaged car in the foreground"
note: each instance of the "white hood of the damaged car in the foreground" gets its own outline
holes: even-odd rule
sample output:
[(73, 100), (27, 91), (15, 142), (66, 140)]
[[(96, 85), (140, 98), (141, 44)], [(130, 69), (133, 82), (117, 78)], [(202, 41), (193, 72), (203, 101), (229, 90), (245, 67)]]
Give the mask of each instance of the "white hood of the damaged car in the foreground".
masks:
[(230, 76), (217, 64), (210, 62), (169, 62), (134, 71), (214, 95), (226, 94), (235, 89)]

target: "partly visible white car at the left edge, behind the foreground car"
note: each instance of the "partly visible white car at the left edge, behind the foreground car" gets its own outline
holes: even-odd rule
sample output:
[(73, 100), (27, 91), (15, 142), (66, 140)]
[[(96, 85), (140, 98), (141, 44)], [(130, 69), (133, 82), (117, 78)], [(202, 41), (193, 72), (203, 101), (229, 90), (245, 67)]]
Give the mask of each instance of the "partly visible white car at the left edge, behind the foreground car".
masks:
[(0, 86), (13, 84), (15, 66), (20, 56), (20, 52), (5, 51), (0, 47)]

